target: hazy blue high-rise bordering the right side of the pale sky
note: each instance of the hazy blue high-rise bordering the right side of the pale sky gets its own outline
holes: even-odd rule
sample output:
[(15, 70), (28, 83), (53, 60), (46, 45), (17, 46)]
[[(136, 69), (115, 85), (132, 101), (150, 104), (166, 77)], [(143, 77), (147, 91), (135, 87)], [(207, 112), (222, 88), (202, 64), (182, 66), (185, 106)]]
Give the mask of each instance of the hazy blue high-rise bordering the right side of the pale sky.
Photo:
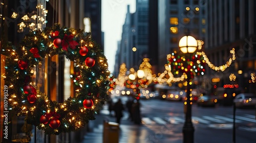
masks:
[(130, 6), (127, 6), (127, 13), (122, 29), (122, 38), (118, 46), (114, 73), (119, 66), (125, 63), (127, 69), (134, 67), (139, 69), (143, 58), (148, 56), (148, 0), (136, 1), (136, 12), (130, 13)]

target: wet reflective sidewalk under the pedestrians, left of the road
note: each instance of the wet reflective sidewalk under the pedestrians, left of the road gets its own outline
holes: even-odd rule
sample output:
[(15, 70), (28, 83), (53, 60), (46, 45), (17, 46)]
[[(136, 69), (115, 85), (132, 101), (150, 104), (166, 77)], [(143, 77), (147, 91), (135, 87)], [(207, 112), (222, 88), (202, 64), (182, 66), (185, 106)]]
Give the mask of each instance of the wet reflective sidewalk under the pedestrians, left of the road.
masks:
[[(172, 142), (180, 143), (182, 138), (172, 140), (170, 138), (158, 138), (158, 134), (148, 129), (143, 124), (136, 125), (129, 118), (129, 114), (124, 111), (124, 116), (121, 119), (119, 125), (119, 143), (155, 143), (155, 142)], [(90, 121), (89, 128), (93, 129), (91, 132), (87, 132), (84, 135), (83, 140), (80, 143), (101, 143), (103, 142), (103, 123), (104, 120), (109, 122), (116, 122), (114, 116), (109, 115), (108, 107), (104, 106), (100, 114), (96, 115), (96, 120)], [(110, 142), (115, 143), (115, 142)]]

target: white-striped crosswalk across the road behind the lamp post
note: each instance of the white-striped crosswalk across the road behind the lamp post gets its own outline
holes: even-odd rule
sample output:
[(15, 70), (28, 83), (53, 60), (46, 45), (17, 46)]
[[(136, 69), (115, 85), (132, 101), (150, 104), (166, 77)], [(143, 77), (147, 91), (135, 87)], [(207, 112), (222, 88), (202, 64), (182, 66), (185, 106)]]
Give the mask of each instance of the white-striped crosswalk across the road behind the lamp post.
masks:
[[(192, 116), (192, 122), (194, 124), (230, 124), (233, 123), (233, 115), (210, 115), (210, 116)], [(236, 123), (252, 122), (256, 123), (255, 116), (250, 114), (244, 114), (236, 116)], [(182, 124), (184, 123), (184, 117), (179, 116), (165, 116), (165, 117), (142, 117), (143, 124)]]

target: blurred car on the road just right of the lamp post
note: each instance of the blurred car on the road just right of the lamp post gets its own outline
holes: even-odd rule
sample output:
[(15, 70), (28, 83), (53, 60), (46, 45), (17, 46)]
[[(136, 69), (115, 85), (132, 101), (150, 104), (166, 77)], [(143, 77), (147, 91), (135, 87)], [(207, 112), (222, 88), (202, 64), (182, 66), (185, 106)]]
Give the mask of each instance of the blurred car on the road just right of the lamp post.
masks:
[(198, 106), (212, 106), (215, 107), (217, 104), (217, 98), (211, 95), (200, 96), (197, 100)]

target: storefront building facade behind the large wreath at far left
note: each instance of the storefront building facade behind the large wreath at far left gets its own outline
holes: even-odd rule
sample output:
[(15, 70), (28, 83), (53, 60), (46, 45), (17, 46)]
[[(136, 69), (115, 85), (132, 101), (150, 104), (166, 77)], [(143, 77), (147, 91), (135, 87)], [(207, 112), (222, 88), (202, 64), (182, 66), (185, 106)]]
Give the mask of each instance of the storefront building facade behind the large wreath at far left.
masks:
[[(29, 27), (24, 26), (24, 29), (20, 29), (19, 23), (22, 21), (22, 17), (26, 14), (30, 14), (37, 10), (37, 5), (44, 6), (44, 9), (48, 10), (47, 16), (44, 17), (45, 23), (40, 25), (41, 29), (45, 27), (53, 27), (54, 23), (60, 23), (61, 27), (70, 27), (75, 29), (84, 29), (83, 18), (91, 18), (91, 32), (92, 38), (101, 45), (103, 45), (101, 40), (101, 1), (2, 1), (1, 5), (1, 40), (5, 36), (5, 40), (11, 41), (13, 45), (17, 45), (25, 34), (31, 30)], [(43, 4), (41, 4), (43, 3)], [(42, 7), (41, 6), (41, 7)], [(86, 8), (88, 10), (86, 10)], [(13, 16), (17, 14), (17, 17)], [(30, 16), (30, 15), (29, 15)], [(3, 20), (5, 17), (5, 20)], [(8, 21), (9, 23), (8, 23)], [(47, 22), (46, 22), (47, 21)], [(28, 22), (28, 21), (26, 21)], [(36, 23), (37, 24), (37, 23)], [(40, 29), (40, 30), (41, 30)], [(4, 32), (5, 34), (2, 34)], [(103, 46), (102, 50), (103, 50)], [(1, 75), (4, 73), (3, 62), (5, 57), (1, 55)], [(46, 93), (51, 100), (56, 102), (63, 102), (69, 97), (73, 97), (75, 91), (73, 90), (73, 81), (70, 75), (73, 72), (73, 62), (68, 61), (64, 56), (55, 55), (52, 57), (47, 57), (42, 62), (41, 67), (35, 67), (36, 87), (41, 92)], [(1, 78), (1, 87), (4, 84), (3, 78)], [(1, 89), (2, 90), (2, 89)], [(1, 92), (1, 102), (4, 94)], [(1, 107), (1, 112), (3, 107)], [(8, 132), (10, 138), (4, 139), (3, 137), (3, 117), (1, 117), (1, 142), (11, 142), (11, 138), (14, 135), (23, 133), (21, 130), (24, 125), (24, 117), (17, 117), (15, 114), (9, 117), (10, 123), (8, 126), (10, 131)], [(31, 136), (32, 142), (79, 142), (83, 139), (84, 133), (86, 133), (87, 127), (84, 127), (78, 132), (61, 133), (60, 135), (47, 135), (39, 129), (31, 131), (33, 135)]]

